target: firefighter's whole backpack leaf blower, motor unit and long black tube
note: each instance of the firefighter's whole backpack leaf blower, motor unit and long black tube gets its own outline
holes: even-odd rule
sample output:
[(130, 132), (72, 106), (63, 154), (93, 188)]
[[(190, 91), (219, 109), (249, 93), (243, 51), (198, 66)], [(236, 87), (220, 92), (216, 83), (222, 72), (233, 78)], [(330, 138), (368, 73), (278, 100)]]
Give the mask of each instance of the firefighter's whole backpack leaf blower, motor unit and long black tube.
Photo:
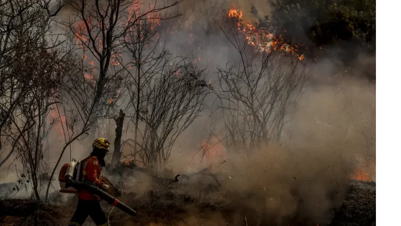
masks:
[(111, 196), (92, 183), (82, 181), (82, 168), (85, 160), (78, 161), (77, 163), (75, 158), (73, 158), (70, 163), (66, 163), (61, 167), (59, 173), (60, 192), (76, 194), (78, 193), (78, 190), (86, 190), (99, 196), (99, 198), (121, 209), (129, 215), (135, 216), (136, 211), (119, 201), (117, 198)]

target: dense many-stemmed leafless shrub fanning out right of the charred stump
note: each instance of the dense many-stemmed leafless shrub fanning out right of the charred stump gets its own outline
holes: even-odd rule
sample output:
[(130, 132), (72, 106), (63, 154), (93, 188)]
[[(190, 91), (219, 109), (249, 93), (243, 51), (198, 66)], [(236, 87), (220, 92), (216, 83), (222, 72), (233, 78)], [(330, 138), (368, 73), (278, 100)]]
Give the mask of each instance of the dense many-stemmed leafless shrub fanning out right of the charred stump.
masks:
[(135, 151), (146, 164), (167, 162), (175, 140), (205, 109), (211, 91), (204, 70), (185, 58), (172, 60), (163, 60), (139, 108), (141, 142), (135, 141)]

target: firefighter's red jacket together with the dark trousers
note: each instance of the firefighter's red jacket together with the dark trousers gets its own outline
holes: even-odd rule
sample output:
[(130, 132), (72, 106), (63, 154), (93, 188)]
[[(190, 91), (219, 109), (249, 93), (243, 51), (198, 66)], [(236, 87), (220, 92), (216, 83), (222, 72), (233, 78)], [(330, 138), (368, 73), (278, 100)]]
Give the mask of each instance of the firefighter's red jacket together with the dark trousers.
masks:
[[(103, 188), (104, 184), (100, 181), (100, 163), (96, 156), (90, 155), (84, 159), (82, 170), (82, 181), (92, 182), (96, 186)], [(100, 198), (85, 191), (78, 190), (78, 205), (72, 216), (69, 226), (81, 226), (86, 218), (90, 216), (98, 226), (108, 226), (106, 214), (100, 205)]]

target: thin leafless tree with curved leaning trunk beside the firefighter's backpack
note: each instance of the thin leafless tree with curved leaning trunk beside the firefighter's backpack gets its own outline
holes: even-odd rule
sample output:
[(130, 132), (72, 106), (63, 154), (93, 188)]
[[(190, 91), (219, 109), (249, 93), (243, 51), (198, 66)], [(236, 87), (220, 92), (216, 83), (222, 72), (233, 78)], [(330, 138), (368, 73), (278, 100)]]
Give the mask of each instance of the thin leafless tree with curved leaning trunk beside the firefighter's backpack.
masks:
[(68, 57), (69, 70), (66, 71), (63, 80), (60, 81), (55, 97), (58, 102), (55, 105), (55, 110), (59, 116), (64, 146), (50, 175), (45, 201), (48, 200), (53, 176), (65, 151), (70, 148), (71, 159), (71, 144), (76, 140), (84, 139), (98, 119), (105, 117), (104, 112), (107, 111), (105, 108), (108, 106), (106, 104), (99, 105), (98, 102), (106, 101), (115, 96), (120, 86), (120, 83), (110, 83), (103, 88), (102, 96), (99, 97), (96, 80), (86, 77), (85, 71), (90, 70), (89, 66), (85, 65), (76, 54)]

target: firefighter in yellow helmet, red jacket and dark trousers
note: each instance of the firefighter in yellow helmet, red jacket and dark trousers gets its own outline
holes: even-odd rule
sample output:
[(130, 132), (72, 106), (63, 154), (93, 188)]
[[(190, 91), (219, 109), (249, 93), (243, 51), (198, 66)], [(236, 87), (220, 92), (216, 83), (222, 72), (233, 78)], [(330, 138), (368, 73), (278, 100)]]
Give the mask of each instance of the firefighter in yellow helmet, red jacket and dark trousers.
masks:
[[(109, 152), (110, 142), (105, 138), (98, 138), (92, 144), (92, 153), (82, 162), (82, 181), (92, 182), (104, 191), (109, 186), (100, 181), (101, 167), (105, 166), (104, 157)], [(96, 225), (108, 226), (106, 214), (100, 205), (101, 199), (85, 190), (78, 190), (78, 205), (72, 216), (69, 226), (81, 226), (90, 216)]]

